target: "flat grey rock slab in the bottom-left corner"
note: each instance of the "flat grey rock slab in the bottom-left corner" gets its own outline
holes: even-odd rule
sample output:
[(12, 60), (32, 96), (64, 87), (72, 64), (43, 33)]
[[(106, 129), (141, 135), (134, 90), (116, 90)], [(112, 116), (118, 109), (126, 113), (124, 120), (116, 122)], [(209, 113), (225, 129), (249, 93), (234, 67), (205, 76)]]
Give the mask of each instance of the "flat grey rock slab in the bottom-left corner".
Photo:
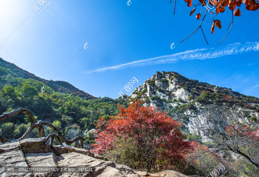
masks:
[(21, 150), (4, 151), (0, 154), (1, 177), (33, 177), (32, 173), (4, 173), (4, 167), (28, 167)]

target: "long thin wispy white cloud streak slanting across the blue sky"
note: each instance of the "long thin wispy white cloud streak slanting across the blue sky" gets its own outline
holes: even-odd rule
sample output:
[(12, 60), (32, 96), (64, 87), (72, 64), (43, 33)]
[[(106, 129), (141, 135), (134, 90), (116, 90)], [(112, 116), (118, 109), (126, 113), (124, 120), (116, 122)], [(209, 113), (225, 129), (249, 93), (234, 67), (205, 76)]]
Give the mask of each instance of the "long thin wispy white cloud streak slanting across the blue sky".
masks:
[(258, 42), (246, 42), (245, 44), (235, 43), (229, 44), (227, 46), (222, 46), (218, 48), (201, 48), (195, 50), (186, 50), (184, 52), (179, 52), (170, 55), (163, 55), (159, 57), (154, 57), (150, 59), (144, 60), (136, 60), (129, 63), (124, 63), (120, 65), (114, 65), (111, 67), (104, 67), (95, 69), (92, 71), (84, 71), (83, 73), (92, 73), (92, 72), (103, 72), (108, 69), (112, 70), (119, 70), (129, 67), (140, 67), (140, 66), (147, 66), (147, 65), (154, 65), (154, 64), (165, 64), (165, 63), (176, 63), (181, 60), (205, 60), (205, 59), (213, 59), (218, 57), (223, 57), (226, 55), (233, 55), (239, 54), (244, 52), (252, 52), (252, 51), (259, 51), (256, 48)]

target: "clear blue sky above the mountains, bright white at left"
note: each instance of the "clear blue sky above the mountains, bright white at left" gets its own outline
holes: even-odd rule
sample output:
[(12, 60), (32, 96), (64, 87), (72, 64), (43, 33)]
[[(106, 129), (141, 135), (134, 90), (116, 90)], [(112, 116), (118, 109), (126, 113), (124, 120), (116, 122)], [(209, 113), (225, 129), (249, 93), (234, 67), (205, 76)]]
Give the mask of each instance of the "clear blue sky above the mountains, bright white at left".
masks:
[(184, 1), (176, 2), (175, 15), (174, 1), (132, 0), (127, 6), (124, 0), (47, 0), (42, 12), (44, 5), (37, 12), (31, 7), (35, 2), (0, 1), (0, 57), (36, 76), (67, 81), (96, 97), (117, 98), (133, 77), (142, 84), (155, 71), (176, 71), (259, 97), (259, 10), (247, 11), (242, 4), (241, 16), (234, 16), (231, 32), (219, 45), (231, 11), (227, 7), (215, 17), (222, 28), (215, 27), (213, 34), (207, 22), (213, 15), (207, 14), (202, 24), (207, 45), (201, 29), (179, 44), (205, 13), (197, 6), (190, 16), (193, 6)]

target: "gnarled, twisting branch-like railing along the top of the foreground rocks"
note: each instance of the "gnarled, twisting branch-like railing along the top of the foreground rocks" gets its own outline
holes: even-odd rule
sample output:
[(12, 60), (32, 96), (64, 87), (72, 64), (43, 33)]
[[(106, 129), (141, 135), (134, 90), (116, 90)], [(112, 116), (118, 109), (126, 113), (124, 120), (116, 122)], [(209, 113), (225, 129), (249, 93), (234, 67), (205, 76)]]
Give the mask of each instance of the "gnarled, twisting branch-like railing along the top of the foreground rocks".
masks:
[[(22, 137), (19, 138), (18, 140), (25, 139), (31, 133), (31, 131), (33, 129), (35, 129), (35, 128), (37, 128), (39, 130), (39, 137), (40, 138), (44, 137), (45, 136), (45, 132), (44, 132), (43, 125), (46, 125), (46, 126), (52, 128), (57, 133), (57, 134), (54, 134), (54, 133), (53, 134), (49, 134), (47, 136), (47, 138), (46, 138), (47, 140), (49, 140), (49, 138), (50, 138), (50, 143), (49, 143), (50, 146), (52, 146), (53, 140), (55, 139), (58, 142), (58, 144), (62, 144), (61, 140), (63, 142), (65, 142), (66, 144), (68, 144), (68, 145), (71, 145), (72, 143), (75, 142), (74, 146), (77, 147), (77, 148), (80, 148), (80, 144), (79, 144), (79, 141), (80, 141), (81, 148), (83, 148), (83, 138), (81, 136), (77, 136), (73, 140), (67, 140), (62, 135), (62, 133), (54, 125), (52, 125), (51, 123), (44, 122), (44, 121), (41, 121), (41, 120), (38, 121), (38, 123), (35, 123), (35, 119), (34, 119), (33, 114), (29, 110), (26, 110), (26, 109), (23, 109), (23, 108), (14, 110), (12, 112), (3, 113), (0, 116), (0, 122), (3, 121), (3, 120), (6, 120), (7, 118), (12, 117), (12, 116), (14, 116), (16, 114), (19, 114), (19, 113), (23, 113), (23, 114), (28, 115), (30, 120), (31, 120), (31, 125), (28, 128), (28, 130), (22, 135)], [(2, 135), (0, 135), (0, 142), (1, 143), (6, 143), (6, 142), (12, 142), (12, 141), (8, 140), (8, 139), (4, 138)]]

